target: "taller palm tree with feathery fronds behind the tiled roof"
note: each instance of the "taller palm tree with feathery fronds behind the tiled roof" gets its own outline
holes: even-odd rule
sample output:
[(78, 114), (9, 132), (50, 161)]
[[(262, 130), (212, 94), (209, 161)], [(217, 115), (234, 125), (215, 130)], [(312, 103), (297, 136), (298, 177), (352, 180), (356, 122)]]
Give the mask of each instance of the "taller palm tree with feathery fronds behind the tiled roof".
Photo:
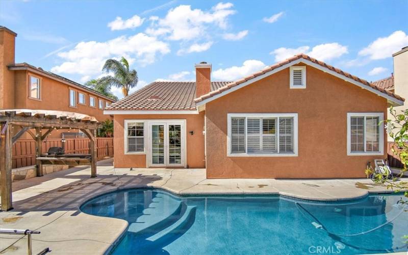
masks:
[(129, 69), (129, 62), (127, 62), (124, 57), (119, 61), (116, 59), (108, 59), (102, 70), (104, 72), (112, 72), (113, 76), (105, 76), (100, 78), (100, 81), (121, 88), (123, 96), (127, 96), (129, 90), (137, 85), (137, 71), (135, 69)]

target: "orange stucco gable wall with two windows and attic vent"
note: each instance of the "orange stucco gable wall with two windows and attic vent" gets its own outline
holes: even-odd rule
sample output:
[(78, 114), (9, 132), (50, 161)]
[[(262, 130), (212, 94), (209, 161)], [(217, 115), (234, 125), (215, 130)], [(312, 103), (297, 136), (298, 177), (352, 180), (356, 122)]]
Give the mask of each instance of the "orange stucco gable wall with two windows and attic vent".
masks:
[[(307, 88), (289, 89), (284, 69), (206, 105), (207, 177), (364, 177), (386, 156), (347, 156), (347, 113), (386, 111), (385, 98), (311, 66)], [(298, 157), (227, 157), (227, 113), (298, 113)]]

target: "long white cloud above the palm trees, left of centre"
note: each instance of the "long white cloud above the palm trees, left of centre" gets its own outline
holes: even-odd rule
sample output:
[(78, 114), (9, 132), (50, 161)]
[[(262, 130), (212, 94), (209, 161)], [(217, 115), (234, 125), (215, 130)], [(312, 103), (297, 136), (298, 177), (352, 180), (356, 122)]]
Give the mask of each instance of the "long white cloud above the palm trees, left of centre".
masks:
[(51, 71), (92, 76), (101, 73), (109, 58), (124, 56), (130, 63), (136, 58), (140, 64), (146, 65), (155, 62), (158, 54), (165, 55), (169, 52), (167, 43), (143, 33), (120, 36), (106, 42), (80, 42), (73, 49), (58, 53), (65, 62), (54, 66)]

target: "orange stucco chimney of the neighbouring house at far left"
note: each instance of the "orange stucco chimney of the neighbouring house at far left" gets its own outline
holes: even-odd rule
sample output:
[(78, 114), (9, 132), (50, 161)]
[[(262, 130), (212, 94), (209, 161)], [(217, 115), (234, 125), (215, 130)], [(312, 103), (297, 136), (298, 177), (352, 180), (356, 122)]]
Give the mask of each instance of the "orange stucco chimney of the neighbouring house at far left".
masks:
[(8, 65), (14, 65), (15, 39), (17, 34), (0, 26), (0, 109), (14, 108), (14, 72)]

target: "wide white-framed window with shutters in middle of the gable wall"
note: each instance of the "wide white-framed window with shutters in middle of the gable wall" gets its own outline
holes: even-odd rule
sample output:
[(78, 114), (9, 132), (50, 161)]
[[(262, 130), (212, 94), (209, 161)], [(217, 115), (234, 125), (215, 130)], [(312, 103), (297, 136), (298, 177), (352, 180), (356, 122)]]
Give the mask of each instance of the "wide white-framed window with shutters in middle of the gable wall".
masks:
[(297, 114), (228, 114), (228, 156), (297, 156)]

